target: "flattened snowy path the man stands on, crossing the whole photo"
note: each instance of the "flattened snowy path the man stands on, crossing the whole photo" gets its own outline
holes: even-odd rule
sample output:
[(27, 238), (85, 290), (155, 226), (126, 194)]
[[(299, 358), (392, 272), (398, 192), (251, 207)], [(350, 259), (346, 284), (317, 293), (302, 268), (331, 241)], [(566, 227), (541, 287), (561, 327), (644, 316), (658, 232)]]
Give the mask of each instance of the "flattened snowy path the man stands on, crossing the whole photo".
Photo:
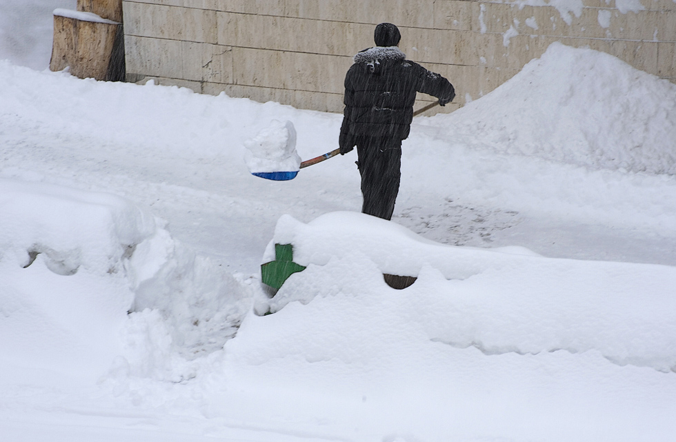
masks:
[[(44, 77), (37, 72), (30, 75), (35, 81)], [(48, 77), (55, 76), (48, 74)], [(61, 81), (69, 84), (73, 80)], [(50, 81), (57, 81), (57, 78)], [(237, 103), (246, 103), (245, 100), (227, 99), (226, 106), (221, 108), (221, 101), (226, 99), (191, 97), (174, 90), (170, 96), (178, 96), (174, 97), (175, 101), (180, 102), (181, 97), (194, 102), (197, 112), (191, 113), (177, 106), (146, 114), (135, 104), (135, 92), (129, 87), (120, 89), (131, 100), (126, 104), (123, 99), (115, 98), (119, 92), (113, 86), (97, 90), (93, 83), (79, 85), (79, 93), (83, 94), (79, 100), (73, 99), (72, 95), (68, 97), (67, 92), (56, 97), (51, 96), (52, 90), (43, 94), (30, 82), (19, 87), (34, 90), (17, 91), (17, 100), (29, 95), (34, 101), (21, 104), (19, 109), (24, 114), (12, 112), (3, 116), (0, 176), (40, 179), (128, 197), (170, 221), (170, 230), (177, 239), (189, 239), (195, 250), (223, 257), (223, 262), (235, 271), (257, 272), (259, 257), (248, 254), (265, 247), (281, 214), (289, 213), (309, 221), (325, 212), (359, 210), (361, 205), (359, 177), (352, 164), (354, 158), (349, 155), (303, 170), (297, 179), (286, 183), (252, 177), (243, 164), (243, 140), (252, 137), (257, 128), (264, 127), (270, 119), (284, 114), (290, 119), (296, 117), (299, 152), (304, 157), (331, 150), (335, 145), (333, 132), (339, 124), (338, 115), (325, 117), (320, 114), (325, 127), (320, 126), (319, 132), (312, 122), (316, 118), (315, 112), (304, 114), (270, 103), (271, 106), (263, 106), (261, 109), (264, 110), (258, 110), (253, 117), (247, 117), (240, 128), (235, 128), (237, 121), (228, 121), (232, 120), (228, 110)], [(142, 96), (146, 94), (161, 100), (159, 91), (144, 90), (141, 93)], [(85, 98), (88, 95), (91, 99)], [(114, 113), (125, 117), (110, 127), (110, 123), (97, 114), (108, 115), (110, 110), (105, 110), (105, 103), (113, 99), (121, 101)], [(37, 112), (34, 106), (43, 111)], [(150, 105), (146, 106), (150, 108)], [(246, 106), (255, 108), (257, 105), (246, 103)], [(49, 110), (44, 111), (49, 108), (58, 108), (59, 119), (52, 118), (54, 114)], [(197, 118), (196, 113), (199, 114)], [(300, 123), (298, 115), (303, 115)], [(119, 117), (112, 121), (117, 119)], [(166, 123), (165, 119), (170, 121)], [(85, 123), (90, 123), (88, 128)], [(570, 169), (568, 166), (557, 168), (519, 157), (481, 158), (488, 152), (476, 154), (460, 146), (456, 148), (456, 155), (461, 157), (453, 159), (461, 160), (457, 166), (450, 163), (450, 169), (448, 165), (435, 167), (433, 155), (421, 156), (419, 152), (430, 151), (430, 148), (430, 153), (434, 152), (435, 144), (439, 143), (438, 136), (433, 134), (430, 139), (425, 130), (419, 128), (419, 133), (414, 132), (404, 145), (411, 158), (404, 157), (396, 222), (435, 241), (455, 245), (524, 245), (551, 257), (676, 264), (676, 235), (666, 228), (655, 229), (655, 223), (645, 225), (644, 220), (637, 223), (634, 214), (630, 213), (619, 214), (623, 215), (619, 219), (599, 219), (593, 210), (584, 207), (572, 206), (569, 210), (556, 207), (566, 204), (565, 201), (537, 201), (541, 196), (533, 189), (552, 189), (548, 175), (565, 177), (561, 167)], [(313, 132), (319, 132), (320, 136), (314, 137)], [(453, 135), (451, 139), (453, 146), (457, 141)], [(460, 143), (464, 141), (466, 139), (459, 137)], [(448, 144), (439, 149), (448, 150)], [(407, 160), (415, 163), (407, 165)], [(514, 174), (521, 173), (517, 170), (524, 166), (531, 168), (531, 177), (524, 174), (520, 178), (522, 182), (516, 185), (504, 178), (508, 174), (516, 176)], [(545, 170), (537, 170), (541, 166)], [(468, 168), (474, 177), (466, 175)], [(495, 168), (504, 168), (504, 171), (496, 174)], [(459, 172), (460, 176), (454, 179), (453, 175)], [(484, 179), (493, 183), (482, 182)], [(584, 181), (575, 184), (576, 179)], [(559, 185), (582, 187), (597, 185), (595, 181), (606, 179), (615, 181), (619, 192), (626, 189), (630, 184), (628, 181), (636, 181), (633, 177), (622, 177), (619, 172), (573, 169), (573, 177), (562, 179)], [(673, 179), (644, 177), (644, 181), (651, 180), (661, 186), (647, 188), (646, 192), (658, 190), (670, 194), (676, 188)], [(446, 191), (440, 183), (457, 188), (450, 187)], [(659, 190), (660, 187), (664, 190)], [(558, 192), (570, 194), (575, 188)], [(616, 201), (612, 198), (615, 195), (609, 197), (608, 205), (614, 205)], [(642, 197), (638, 192), (635, 195), (635, 199)], [(510, 203), (519, 199), (522, 200), (518, 201), (519, 210), (515, 210)], [(588, 204), (585, 199), (582, 195), (579, 203)], [(660, 199), (659, 193), (651, 200), (655, 199)], [(673, 197), (662, 201), (662, 205), (668, 206), (669, 200)], [(538, 203), (543, 203), (544, 208), (538, 208)], [(632, 203), (626, 201), (626, 208), (631, 210)], [(650, 204), (653, 201), (647, 201), (645, 205)], [(228, 228), (232, 222), (238, 224), (236, 228)], [(641, 244), (644, 247), (637, 247)]]

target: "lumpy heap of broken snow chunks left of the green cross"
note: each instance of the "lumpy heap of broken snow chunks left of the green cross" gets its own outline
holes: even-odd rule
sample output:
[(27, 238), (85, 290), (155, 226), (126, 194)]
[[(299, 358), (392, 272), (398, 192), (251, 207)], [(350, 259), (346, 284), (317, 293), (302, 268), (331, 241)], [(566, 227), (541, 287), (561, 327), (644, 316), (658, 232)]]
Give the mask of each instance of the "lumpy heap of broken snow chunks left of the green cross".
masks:
[(128, 268), (135, 299), (126, 357), (137, 376), (189, 378), (189, 361), (221, 350), (250, 310), (250, 281), (195, 254), (166, 230), (139, 245)]

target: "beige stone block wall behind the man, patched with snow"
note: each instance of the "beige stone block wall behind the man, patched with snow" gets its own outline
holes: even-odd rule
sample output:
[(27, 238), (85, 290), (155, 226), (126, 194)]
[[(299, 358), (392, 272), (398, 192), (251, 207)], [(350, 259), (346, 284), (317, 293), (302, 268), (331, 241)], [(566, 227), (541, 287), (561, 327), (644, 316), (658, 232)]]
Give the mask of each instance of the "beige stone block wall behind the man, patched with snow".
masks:
[(408, 59), (456, 86), (444, 112), (495, 89), (554, 41), (676, 83), (676, 0), (545, 1), (123, 0), (127, 79), (342, 112), (352, 56), (390, 21)]

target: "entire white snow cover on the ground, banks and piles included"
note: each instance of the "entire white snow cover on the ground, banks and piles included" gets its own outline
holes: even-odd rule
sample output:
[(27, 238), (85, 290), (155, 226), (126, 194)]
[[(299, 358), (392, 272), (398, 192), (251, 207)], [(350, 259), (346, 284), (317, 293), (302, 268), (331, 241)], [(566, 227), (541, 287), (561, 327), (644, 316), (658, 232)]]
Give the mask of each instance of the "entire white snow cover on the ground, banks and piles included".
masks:
[(555, 44), (414, 121), (388, 222), (354, 152), (247, 169), (341, 115), (1, 54), (3, 441), (673, 439), (676, 85)]

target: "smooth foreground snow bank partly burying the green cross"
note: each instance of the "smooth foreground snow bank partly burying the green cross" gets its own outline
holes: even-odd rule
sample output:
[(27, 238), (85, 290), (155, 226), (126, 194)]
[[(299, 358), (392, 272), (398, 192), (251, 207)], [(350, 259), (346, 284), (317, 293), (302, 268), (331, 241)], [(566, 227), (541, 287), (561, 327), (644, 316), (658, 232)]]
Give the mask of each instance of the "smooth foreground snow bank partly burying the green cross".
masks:
[[(199, 392), (220, 385), (210, 416), (257, 414), (319, 440), (635, 442), (673, 431), (674, 268), (444, 246), (353, 212), (283, 217), (272, 243), (292, 243), (308, 268), (195, 379)], [(394, 290), (383, 272), (418, 279)]]

